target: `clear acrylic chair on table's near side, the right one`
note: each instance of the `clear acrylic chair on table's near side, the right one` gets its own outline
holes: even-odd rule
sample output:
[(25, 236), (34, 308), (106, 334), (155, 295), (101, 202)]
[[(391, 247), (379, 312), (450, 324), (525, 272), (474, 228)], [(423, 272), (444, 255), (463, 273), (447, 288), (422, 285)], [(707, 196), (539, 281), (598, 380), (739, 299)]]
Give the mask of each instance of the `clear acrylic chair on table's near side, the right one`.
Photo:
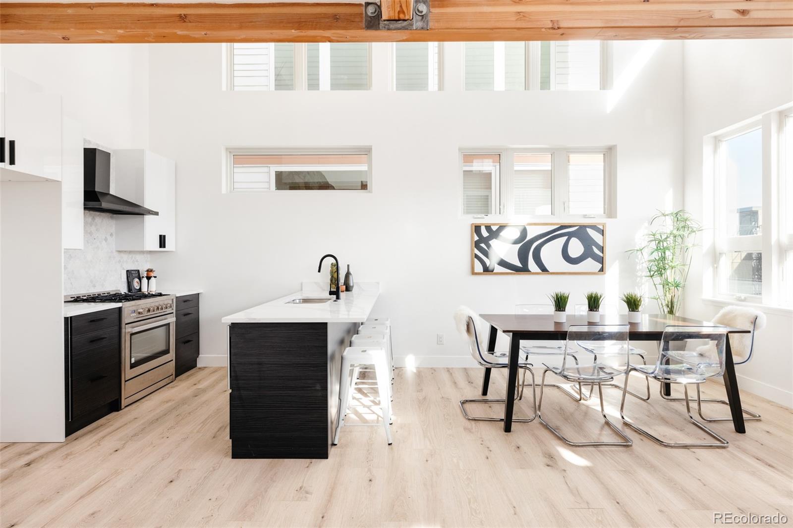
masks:
[[(631, 370), (637, 370), (647, 377), (653, 377), (661, 383), (683, 385), (684, 401), (688, 419), (696, 427), (705, 431), (716, 442), (666, 442), (648, 430), (638, 427), (634, 421), (625, 416), (625, 396), (619, 407), (619, 414), (623, 423), (638, 433), (645, 435), (653, 442), (665, 447), (726, 447), (729, 442), (716, 434), (713, 430), (699, 423), (691, 415), (691, 403), (688, 399), (688, 385), (705, 383), (708, 378), (718, 377), (724, 373), (724, 348), (727, 338), (726, 327), (687, 327), (668, 326), (661, 337), (661, 350), (655, 365), (631, 365)], [(627, 385), (627, 377), (626, 377)], [(701, 405), (699, 390), (697, 391), (697, 404)]]

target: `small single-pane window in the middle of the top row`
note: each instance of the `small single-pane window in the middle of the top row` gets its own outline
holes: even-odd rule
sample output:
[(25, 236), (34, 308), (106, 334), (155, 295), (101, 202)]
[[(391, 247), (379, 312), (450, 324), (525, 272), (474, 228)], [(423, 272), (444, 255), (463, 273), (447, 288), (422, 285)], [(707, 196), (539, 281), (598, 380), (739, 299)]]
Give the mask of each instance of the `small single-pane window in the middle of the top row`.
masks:
[(440, 86), (440, 46), (437, 42), (393, 44), (393, 89), (436, 91)]

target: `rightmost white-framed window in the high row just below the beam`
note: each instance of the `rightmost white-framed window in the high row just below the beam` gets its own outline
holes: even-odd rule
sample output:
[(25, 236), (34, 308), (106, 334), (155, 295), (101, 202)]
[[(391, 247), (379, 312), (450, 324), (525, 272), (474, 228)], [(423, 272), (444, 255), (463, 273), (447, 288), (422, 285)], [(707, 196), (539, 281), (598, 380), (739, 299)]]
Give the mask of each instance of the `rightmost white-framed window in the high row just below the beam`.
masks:
[(466, 42), (465, 90), (602, 90), (606, 45)]

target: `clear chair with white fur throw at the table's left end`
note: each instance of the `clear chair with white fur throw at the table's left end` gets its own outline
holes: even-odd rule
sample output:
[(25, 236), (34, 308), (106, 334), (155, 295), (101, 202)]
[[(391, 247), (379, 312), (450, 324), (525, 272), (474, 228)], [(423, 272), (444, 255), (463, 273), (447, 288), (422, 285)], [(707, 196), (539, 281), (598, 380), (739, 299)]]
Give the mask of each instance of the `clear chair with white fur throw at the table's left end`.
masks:
[[(473, 312), (470, 308), (466, 308), (465, 306), (461, 306), (454, 312), (454, 321), (457, 323), (458, 330), (461, 331), (462, 335), (465, 336), (465, 339), (468, 340), (469, 343), (469, 350), (471, 353), (471, 357), (474, 361), (476, 361), (480, 366), (485, 367), (486, 369), (506, 369), (508, 367), (508, 354), (503, 353), (490, 353), (485, 350), (484, 339), (485, 332), (482, 331), (484, 327), (484, 323), (481, 321), (480, 317), (477, 315), (476, 312)], [(477, 324), (478, 323), (478, 324)], [(532, 399), (534, 400), (534, 415), (531, 418), (524, 419), (524, 418), (513, 418), (513, 422), (523, 422), (528, 423), (534, 421), (537, 418), (537, 392), (534, 388), (534, 371), (531, 369), (533, 365), (528, 362), (528, 358), (526, 354), (519, 355), (519, 363), (518, 368), (523, 370), (523, 382), (520, 384), (519, 387), (515, 388), (515, 395), (512, 397), (515, 400), (523, 400), (523, 388), (526, 385), (526, 373), (531, 375), (531, 392), (532, 392)], [(492, 418), (487, 416), (473, 416), (469, 415), (467, 411), (465, 411), (466, 404), (506, 404), (507, 400), (498, 400), (498, 399), (488, 399), (488, 398), (479, 398), (475, 400), (460, 400), (460, 410), (462, 411), (462, 415), (465, 419), (469, 420), (476, 420), (476, 421), (485, 421), (485, 422), (503, 422), (504, 418)]]

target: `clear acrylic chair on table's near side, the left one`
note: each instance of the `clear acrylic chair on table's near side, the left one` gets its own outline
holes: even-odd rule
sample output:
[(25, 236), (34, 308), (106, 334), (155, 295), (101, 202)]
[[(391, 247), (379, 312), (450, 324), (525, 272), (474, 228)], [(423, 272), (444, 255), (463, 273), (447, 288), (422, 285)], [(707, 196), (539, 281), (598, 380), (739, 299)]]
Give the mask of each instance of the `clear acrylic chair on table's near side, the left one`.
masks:
[[(537, 418), (562, 442), (574, 447), (590, 446), (631, 446), (631, 440), (619, 427), (611, 423), (603, 407), (603, 383), (614, 381), (615, 376), (626, 373), (630, 369), (630, 354), (628, 352), (628, 325), (626, 324), (588, 324), (571, 326), (567, 331), (565, 342), (565, 354), (562, 358), (561, 366), (545, 365), (546, 369), (542, 372), (542, 382), (540, 384), (540, 396), (537, 406)], [(582, 345), (597, 345), (600, 347), (600, 354), (597, 360), (591, 365), (580, 365), (568, 361), (574, 354), (584, 353)], [(595, 358), (594, 354), (590, 356)], [(558, 377), (573, 383), (586, 383), (597, 385), (598, 395), (600, 396), (600, 414), (603, 420), (612, 430), (615, 431), (623, 440), (618, 442), (584, 441), (577, 442), (566, 438), (555, 427), (550, 425), (542, 417), (542, 396), (545, 392), (545, 378), (547, 373), (554, 373)], [(624, 397), (624, 395), (623, 395)]]

